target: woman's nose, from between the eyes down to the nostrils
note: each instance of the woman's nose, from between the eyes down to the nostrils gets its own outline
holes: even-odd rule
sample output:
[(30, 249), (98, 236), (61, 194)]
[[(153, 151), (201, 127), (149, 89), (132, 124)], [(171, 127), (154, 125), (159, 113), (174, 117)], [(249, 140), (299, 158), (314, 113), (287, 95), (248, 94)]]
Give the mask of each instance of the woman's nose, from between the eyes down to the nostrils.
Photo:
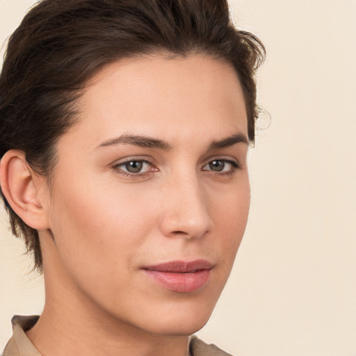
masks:
[(198, 179), (175, 179), (162, 193), (160, 225), (164, 236), (193, 239), (211, 232), (209, 199)]

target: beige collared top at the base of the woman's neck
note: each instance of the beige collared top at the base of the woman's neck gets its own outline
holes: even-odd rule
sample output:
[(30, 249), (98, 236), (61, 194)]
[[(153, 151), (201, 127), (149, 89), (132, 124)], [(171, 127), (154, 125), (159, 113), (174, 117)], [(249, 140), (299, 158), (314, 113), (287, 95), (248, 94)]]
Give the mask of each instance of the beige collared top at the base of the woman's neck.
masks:
[[(37, 323), (39, 316), (18, 316), (15, 315), (11, 320), (13, 323), (13, 337), (3, 350), (3, 356), (41, 356), (33, 346), (25, 332), (30, 330)], [(189, 343), (190, 356), (232, 356), (220, 350), (217, 346), (204, 343), (197, 337), (191, 337)]]

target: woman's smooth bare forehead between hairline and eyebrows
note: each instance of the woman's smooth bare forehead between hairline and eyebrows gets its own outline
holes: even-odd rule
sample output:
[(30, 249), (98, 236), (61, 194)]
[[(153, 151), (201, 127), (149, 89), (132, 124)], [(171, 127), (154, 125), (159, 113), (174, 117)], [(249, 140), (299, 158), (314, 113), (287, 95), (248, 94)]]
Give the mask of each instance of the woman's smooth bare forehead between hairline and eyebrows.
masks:
[(79, 99), (79, 119), (74, 131), (91, 145), (126, 131), (168, 140), (188, 138), (192, 130), (247, 131), (234, 68), (208, 56), (145, 56), (107, 65)]

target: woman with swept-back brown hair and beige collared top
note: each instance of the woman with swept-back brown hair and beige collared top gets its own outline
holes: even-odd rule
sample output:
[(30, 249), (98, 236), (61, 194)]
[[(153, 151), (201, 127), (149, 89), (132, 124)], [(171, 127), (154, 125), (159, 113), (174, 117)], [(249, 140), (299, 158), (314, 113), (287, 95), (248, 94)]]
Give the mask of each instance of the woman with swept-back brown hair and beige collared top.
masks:
[(12, 355), (226, 355), (190, 335), (248, 218), (264, 47), (223, 0), (44, 0), (0, 79), (1, 191), (43, 271)]

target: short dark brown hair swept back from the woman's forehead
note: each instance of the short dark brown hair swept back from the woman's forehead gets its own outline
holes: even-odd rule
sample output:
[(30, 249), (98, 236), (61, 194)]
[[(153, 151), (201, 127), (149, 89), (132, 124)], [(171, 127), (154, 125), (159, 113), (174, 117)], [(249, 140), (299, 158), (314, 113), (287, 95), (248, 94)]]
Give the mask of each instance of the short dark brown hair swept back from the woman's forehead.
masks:
[[(56, 140), (74, 124), (81, 88), (104, 65), (156, 52), (203, 54), (233, 65), (254, 142), (254, 74), (265, 50), (234, 27), (227, 0), (42, 0), (8, 42), (0, 76), (0, 157), (21, 149), (33, 170), (49, 177)], [(3, 201), (13, 234), (24, 238), (42, 270), (38, 232)]]

